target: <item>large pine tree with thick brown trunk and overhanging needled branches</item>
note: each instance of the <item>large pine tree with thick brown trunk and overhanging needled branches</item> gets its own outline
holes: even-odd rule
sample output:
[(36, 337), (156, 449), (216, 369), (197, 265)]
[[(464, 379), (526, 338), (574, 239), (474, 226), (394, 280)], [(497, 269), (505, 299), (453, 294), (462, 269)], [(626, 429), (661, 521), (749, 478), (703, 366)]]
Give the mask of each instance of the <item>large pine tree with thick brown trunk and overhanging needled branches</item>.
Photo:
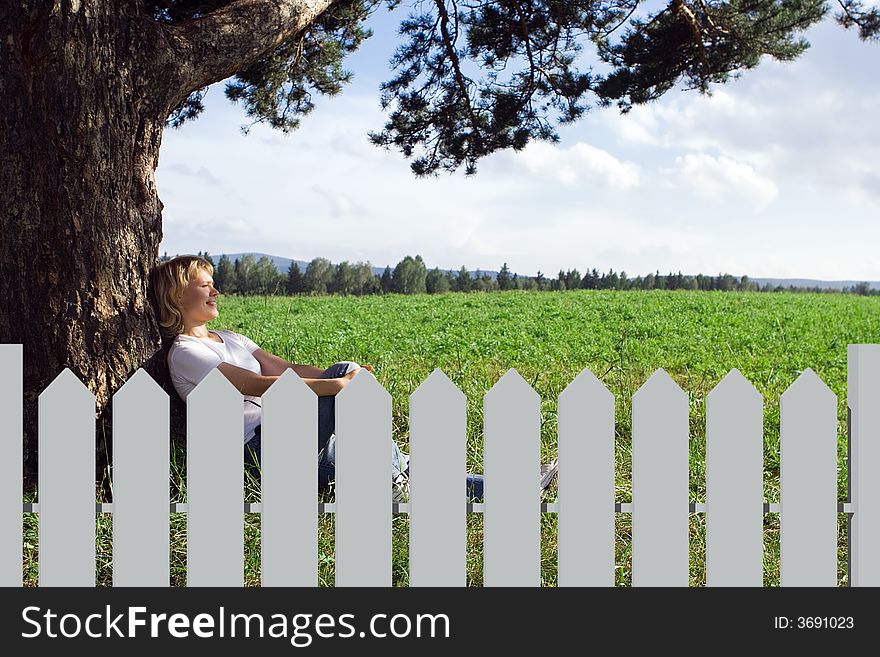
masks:
[[(842, 3), (844, 26), (877, 36), (876, 9)], [(99, 409), (141, 365), (173, 395), (149, 297), (166, 126), (196, 118), (207, 88), (230, 79), (250, 121), (296, 128), (350, 79), (342, 62), (371, 12), (397, 4), (0, 2), (0, 340), (24, 344), (28, 446), (36, 397), (65, 367)], [(492, 152), (556, 140), (590, 102), (625, 111), (679, 81), (707, 91), (762, 54), (792, 59), (827, 12), (821, 0), (670, 0), (650, 15), (637, 4), (422, 3), (401, 26), (373, 142), (413, 156), (417, 175), (473, 173)], [(602, 63), (585, 73), (587, 45)]]

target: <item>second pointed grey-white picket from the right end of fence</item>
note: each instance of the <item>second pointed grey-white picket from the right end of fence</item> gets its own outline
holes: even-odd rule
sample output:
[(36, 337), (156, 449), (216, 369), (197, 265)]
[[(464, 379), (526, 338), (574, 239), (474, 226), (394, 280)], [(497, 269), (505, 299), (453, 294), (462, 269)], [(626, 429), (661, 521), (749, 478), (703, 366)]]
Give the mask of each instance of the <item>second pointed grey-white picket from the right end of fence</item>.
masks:
[(706, 584), (763, 583), (763, 398), (740, 373), (706, 396)]

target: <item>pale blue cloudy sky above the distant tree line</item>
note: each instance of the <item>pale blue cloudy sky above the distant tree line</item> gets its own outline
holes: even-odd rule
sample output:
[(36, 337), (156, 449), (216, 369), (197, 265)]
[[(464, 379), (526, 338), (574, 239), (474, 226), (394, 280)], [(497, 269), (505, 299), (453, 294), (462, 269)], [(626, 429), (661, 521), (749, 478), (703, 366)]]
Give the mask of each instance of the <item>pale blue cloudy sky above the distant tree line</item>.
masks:
[(396, 26), (371, 23), (353, 83), (289, 135), (243, 136), (222, 83), (198, 120), (167, 129), (160, 253), (880, 281), (880, 43), (826, 19), (799, 59), (766, 59), (711, 96), (594, 109), (556, 145), (417, 179), (367, 139), (385, 122)]

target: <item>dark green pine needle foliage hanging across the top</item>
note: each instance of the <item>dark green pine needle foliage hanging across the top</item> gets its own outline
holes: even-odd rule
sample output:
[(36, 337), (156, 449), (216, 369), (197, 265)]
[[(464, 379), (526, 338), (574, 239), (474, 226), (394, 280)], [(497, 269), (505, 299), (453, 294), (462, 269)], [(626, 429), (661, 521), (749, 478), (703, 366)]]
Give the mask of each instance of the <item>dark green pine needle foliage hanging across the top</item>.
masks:
[[(232, 0), (143, 0), (160, 22), (198, 19)], [(226, 95), (253, 122), (299, 126), (315, 94), (334, 95), (351, 79), (343, 59), (370, 36), (369, 16), (401, 0), (340, 0), (304, 32), (250, 62)], [(831, 10), (824, 0), (422, 0), (400, 26), (382, 85), (389, 112), (373, 143), (412, 158), (417, 175), (476, 170), (495, 151), (556, 141), (556, 126), (590, 106), (633, 105), (676, 85), (709, 92), (712, 83), (758, 65), (790, 60), (799, 35)], [(839, 0), (836, 20), (862, 39), (880, 38), (880, 12)], [(175, 127), (204, 109), (194, 91), (169, 118)], [(247, 128), (245, 128), (247, 130)]]

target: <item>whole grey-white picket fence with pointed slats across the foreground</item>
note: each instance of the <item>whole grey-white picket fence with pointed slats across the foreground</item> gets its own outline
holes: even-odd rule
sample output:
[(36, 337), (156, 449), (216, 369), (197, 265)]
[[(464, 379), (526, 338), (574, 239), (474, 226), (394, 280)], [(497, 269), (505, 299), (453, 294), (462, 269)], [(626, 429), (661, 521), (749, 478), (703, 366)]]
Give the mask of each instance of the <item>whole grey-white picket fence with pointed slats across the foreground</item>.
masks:
[[(636, 586), (687, 586), (688, 514), (706, 513), (707, 583), (761, 586), (763, 514), (781, 583), (880, 585), (880, 345), (850, 345), (850, 496), (837, 502), (837, 399), (811, 370), (781, 398), (781, 502), (763, 500), (763, 400), (733, 370), (706, 400), (706, 504), (688, 487), (688, 398), (658, 370), (632, 400), (632, 503), (615, 503), (614, 399), (584, 370), (559, 397), (558, 502), (538, 494), (540, 399), (515, 370), (485, 396), (484, 583), (540, 586), (540, 514), (559, 516), (559, 584), (613, 586), (614, 513), (632, 513)], [(39, 513), (41, 586), (95, 584), (95, 400), (65, 370), (39, 399), (39, 503), (21, 504), (20, 345), (0, 345), (0, 585), (21, 586), (22, 512)], [(187, 416), (189, 586), (243, 584), (244, 512), (262, 514), (262, 584), (317, 585), (317, 404), (286, 372), (263, 396), (262, 501), (243, 505), (239, 393), (214, 371)], [(168, 398), (138, 371), (113, 398), (113, 583), (169, 584)], [(465, 584), (465, 397), (435, 370), (410, 399), (410, 584)], [(362, 370), (337, 398), (336, 584), (391, 584), (391, 398)]]

